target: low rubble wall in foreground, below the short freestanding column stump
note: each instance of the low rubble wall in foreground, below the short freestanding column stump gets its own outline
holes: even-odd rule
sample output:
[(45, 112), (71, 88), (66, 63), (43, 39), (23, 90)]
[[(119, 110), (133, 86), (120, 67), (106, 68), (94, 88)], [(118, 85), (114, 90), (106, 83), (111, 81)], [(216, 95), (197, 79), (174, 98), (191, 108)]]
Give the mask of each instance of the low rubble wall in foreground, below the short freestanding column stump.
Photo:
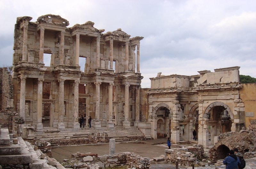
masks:
[(105, 165), (105, 167), (114, 167), (116, 165), (128, 165), (129, 167), (135, 167), (138, 169), (148, 169), (150, 166), (150, 159), (148, 157), (141, 157), (138, 154), (132, 152), (116, 153), (111, 155), (98, 156), (97, 154), (91, 153), (75, 153), (71, 154), (72, 159), (64, 160), (61, 163), (63, 166), (69, 166), (70, 168), (77, 167), (78, 163), (97, 163), (100, 168)]

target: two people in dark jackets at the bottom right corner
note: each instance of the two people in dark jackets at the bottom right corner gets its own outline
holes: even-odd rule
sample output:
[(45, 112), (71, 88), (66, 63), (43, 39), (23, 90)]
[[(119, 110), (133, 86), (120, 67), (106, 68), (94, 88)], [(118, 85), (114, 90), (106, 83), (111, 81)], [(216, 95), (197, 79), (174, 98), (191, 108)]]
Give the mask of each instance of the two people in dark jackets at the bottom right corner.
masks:
[(226, 164), (226, 169), (243, 169), (245, 167), (245, 161), (242, 153), (238, 152), (238, 149), (230, 150), (227, 157), (223, 160), (223, 164)]

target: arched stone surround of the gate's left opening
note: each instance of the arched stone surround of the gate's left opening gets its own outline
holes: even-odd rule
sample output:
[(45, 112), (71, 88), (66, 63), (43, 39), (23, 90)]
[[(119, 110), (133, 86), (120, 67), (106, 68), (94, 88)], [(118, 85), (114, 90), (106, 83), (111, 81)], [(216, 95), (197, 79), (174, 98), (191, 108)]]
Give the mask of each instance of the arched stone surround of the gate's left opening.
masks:
[[(165, 107), (166, 109), (168, 109), (170, 111), (170, 114), (168, 116), (168, 118), (163, 118), (163, 117), (157, 117), (157, 111), (161, 108), (161, 107)], [(151, 122), (151, 136), (154, 139), (157, 139), (157, 121), (158, 119), (162, 119), (165, 123), (165, 133), (167, 134), (167, 132), (169, 132), (169, 122), (170, 119), (172, 117), (172, 109), (170, 108), (170, 106), (168, 106), (165, 103), (160, 103), (158, 104), (155, 109), (153, 110), (153, 114), (152, 114), (152, 122)]]

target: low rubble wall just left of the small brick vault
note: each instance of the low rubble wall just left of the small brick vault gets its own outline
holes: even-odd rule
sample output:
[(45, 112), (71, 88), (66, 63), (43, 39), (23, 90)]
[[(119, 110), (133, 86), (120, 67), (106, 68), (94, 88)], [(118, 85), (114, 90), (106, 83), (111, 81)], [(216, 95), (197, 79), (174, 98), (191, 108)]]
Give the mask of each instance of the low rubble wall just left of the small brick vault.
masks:
[(203, 145), (194, 144), (193, 147), (184, 147), (179, 149), (165, 149), (165, 161), (168, 163), (179, 162), (180, 165), (192, 166), (196, 158), (204, 156)]

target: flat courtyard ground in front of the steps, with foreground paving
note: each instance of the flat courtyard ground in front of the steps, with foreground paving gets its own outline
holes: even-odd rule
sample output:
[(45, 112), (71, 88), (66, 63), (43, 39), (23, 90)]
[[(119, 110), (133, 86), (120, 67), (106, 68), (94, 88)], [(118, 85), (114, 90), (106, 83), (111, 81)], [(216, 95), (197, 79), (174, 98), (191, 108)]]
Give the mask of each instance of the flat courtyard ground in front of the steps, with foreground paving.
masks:
[[(155, 139), (155, 140), (145, 140), (140, 143), (129, 142), (129, 143), (116, 143), (116, 153), (119, 152), (133, 152), (139, 154), (143, 157), (149, 157), (153, 159), (164, 155), (164, 149), (167, 149), (166, 144), (167, 139)], [(163, 144), (161, 144), (163, 143)], [(158, 145), (157, 145), (158, 144)], [(184, 144), (189, 145), (189, 144)], [(192, 144), (190, 144), (192, 145)], [(179, 148), (182, 144), (172, 144), (171, 148)], [(208, 149), (207, 149), (208, 150)], [(205, 150), (205, 151), (207, 151)], [(64, 158), (71, 158), (72, 153), (76, 152), (82, 153), (95, 153), (98, 156), (109, 154), (109, 143), (107, 144), (87, 144), (87, 145), (74, 145), (74, 146), (62, 146), (62, 147), (53, 147), (52, 156), (59, 162), (62, 162)], [(246, 167), (244, 169), (256, 169), (256, 158), (245, 159)], [(192, 169), (192, 167), (179, 167), (180, 169)], [(215, 166), (205, 166), (205, 167), (195, 167), (196, 169), (215, 169)], [(220, 166), (219, 168), (225, 168), (225, 165)], [(175, 169), (172, 164), (165, 164), (160, 162), (158, 164), (151, 163), (150, 169)]]

